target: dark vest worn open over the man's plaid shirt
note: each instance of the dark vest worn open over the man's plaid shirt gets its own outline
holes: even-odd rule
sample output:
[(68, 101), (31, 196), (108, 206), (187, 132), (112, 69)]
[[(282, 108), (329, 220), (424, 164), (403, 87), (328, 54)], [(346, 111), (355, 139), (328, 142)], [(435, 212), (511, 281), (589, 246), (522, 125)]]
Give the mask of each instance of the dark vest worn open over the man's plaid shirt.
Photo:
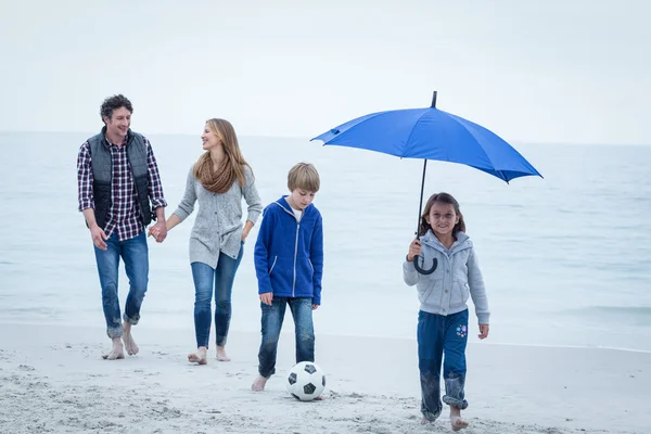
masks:
[[(94, 197), (94, 215), (98, 226), (104, 229), (111, 207), (111, 182), (113, 180), (113, 156), (106, 141), (106, 127), (97, 136), (88, 139), (90, 162), (92, 166), (92, 194)], [(127, 132), (127, 159), (131, 166), (131, 175), (138, 193), (140, 218), (144, 226), (152, 221), (152, 208), (149, 200), (149, 173), (146, 165), (146, 146), (142, 136), (129, 130)]]

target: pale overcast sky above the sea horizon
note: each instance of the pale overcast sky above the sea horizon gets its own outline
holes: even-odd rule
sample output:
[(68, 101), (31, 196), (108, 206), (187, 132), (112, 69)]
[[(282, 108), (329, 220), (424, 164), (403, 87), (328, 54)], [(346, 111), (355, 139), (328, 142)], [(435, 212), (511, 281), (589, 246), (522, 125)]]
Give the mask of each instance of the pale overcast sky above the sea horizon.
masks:
[(647, 0), (0, 0), (0, 130), (311, 138), (437, 107), (508, 141), (651, 144)]

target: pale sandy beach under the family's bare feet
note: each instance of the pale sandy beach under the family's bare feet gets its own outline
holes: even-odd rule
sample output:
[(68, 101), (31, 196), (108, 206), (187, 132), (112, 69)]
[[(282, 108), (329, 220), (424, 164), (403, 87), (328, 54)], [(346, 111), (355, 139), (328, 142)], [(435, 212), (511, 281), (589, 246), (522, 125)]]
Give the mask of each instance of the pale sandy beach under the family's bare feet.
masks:
[[(420, 425), (414, 340), (317, 334), (327, 388), (322, 400), (301, 403), (284, 386), (289, 333), (277, 374), (254, 393), (258, 333), (231, 333), (232, 360), (218, 362), (210, 348), (200, 367), (187, 361), (191, 328), (133, 330), (140, 353), (106, 361), (100, 328), (2, 323), (0, 432), (451, 432), (445, 412)], [(471, 343), (468, 363), (465, 433), (646, 433), (651, 425), (651, 354)]]

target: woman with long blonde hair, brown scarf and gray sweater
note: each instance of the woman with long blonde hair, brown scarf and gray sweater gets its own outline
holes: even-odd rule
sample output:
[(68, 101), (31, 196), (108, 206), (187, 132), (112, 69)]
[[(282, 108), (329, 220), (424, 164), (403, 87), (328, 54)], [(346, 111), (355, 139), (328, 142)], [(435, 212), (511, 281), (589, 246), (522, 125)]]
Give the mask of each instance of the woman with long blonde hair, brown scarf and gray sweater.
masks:
[[(215, 292), (217, 360), (229, 361), (226, 340), (231, 318), (231, 292), (242, 259), (244, 240), (259, 217), (263, 205), (253, 170), (244, 159), (232, 125), (225, 119), (206, 122), (206, 151), (190, 168), (186, 193), (167, 219), (167, 230), (183, 221), (199, 202), (199, 214), (190, 234), (190, 265), (194, 279), (194, 330), (196, 353), (190, 362), (206, 365), (210, 335), (210, 303)], [(248, 204), (242, 227), (242, 197)], [(157, 237), (155, 231), (152, 231)]]

